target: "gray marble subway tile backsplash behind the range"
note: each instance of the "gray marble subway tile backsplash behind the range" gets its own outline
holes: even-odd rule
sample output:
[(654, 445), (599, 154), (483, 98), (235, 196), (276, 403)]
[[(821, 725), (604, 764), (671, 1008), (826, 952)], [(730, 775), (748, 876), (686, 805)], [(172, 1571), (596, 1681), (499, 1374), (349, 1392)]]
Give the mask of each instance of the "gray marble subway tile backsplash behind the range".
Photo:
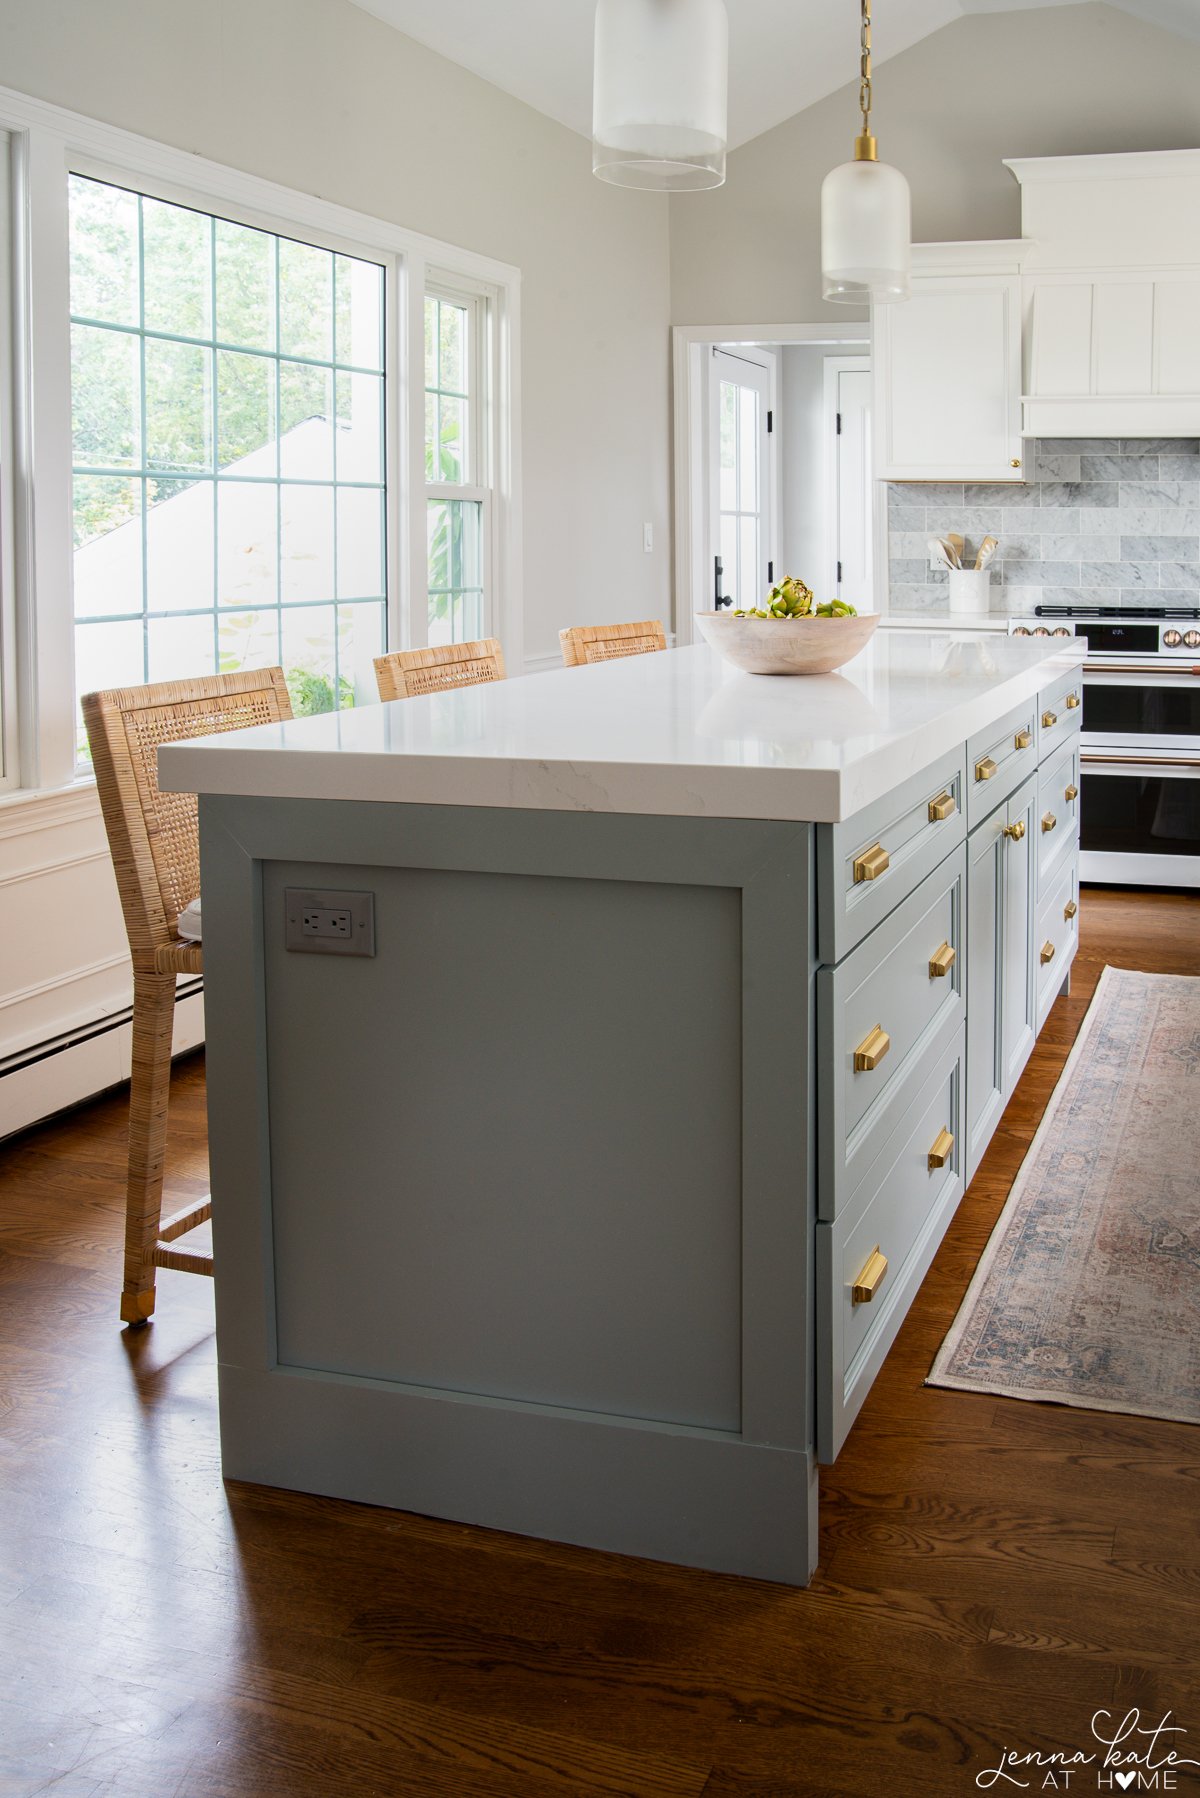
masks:
[(1049, 437), (1024, 485), (894, 482), (887, 489), (892, 611), (945, 611), (928, 539), (957, 530), (968, 566), (986, 536), (991, 611), (1200, 604), (1200, 441)]

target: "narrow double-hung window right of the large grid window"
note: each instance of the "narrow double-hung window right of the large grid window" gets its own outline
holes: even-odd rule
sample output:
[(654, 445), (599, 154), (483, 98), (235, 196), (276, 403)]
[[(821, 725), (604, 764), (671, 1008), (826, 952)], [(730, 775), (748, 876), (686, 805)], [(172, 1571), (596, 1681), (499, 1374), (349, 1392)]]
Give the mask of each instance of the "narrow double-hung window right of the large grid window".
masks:
[(497, 631), (491, 505), (491, 309), (486, 291), (425, 293), (428, 642)]

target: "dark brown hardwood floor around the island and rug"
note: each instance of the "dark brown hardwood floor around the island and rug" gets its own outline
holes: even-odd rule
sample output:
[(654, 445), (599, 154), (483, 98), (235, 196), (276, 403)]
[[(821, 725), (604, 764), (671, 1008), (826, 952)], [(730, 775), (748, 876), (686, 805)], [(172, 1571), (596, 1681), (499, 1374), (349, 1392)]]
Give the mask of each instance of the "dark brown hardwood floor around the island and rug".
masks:
[[(1200, 899), (1085, 892), (808, 1591), (225, 1487), (210, 1287), (119, 1327), (122, 1097), (0, 1149), (0, 1793), (936, 1798), (1133, 1706), (1200, 1757), (1200, 1433), (921, 1384), (1105, 962), (1200, 973)], [(198, 1057), (171, 1124), (182, 1203)]]

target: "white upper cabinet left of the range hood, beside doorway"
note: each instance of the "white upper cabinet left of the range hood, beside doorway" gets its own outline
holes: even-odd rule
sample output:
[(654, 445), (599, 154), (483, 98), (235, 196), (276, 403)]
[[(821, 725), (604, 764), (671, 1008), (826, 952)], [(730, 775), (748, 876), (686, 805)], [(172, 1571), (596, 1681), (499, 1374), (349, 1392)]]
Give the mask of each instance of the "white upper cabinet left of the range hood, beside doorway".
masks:
[(880, 480), (1025, 478), (1020, 245), (914, 245), (912, 298), (873, 313)]

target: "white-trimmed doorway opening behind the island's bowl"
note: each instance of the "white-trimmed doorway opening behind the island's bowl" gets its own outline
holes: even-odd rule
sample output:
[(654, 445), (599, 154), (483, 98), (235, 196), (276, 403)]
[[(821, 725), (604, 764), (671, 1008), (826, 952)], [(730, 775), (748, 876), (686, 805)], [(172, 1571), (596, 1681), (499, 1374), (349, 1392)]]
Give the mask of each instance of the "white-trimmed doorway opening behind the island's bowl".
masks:
[(797, 575), (880, 610), (867, 324), (675, 329), (675, 640)]

